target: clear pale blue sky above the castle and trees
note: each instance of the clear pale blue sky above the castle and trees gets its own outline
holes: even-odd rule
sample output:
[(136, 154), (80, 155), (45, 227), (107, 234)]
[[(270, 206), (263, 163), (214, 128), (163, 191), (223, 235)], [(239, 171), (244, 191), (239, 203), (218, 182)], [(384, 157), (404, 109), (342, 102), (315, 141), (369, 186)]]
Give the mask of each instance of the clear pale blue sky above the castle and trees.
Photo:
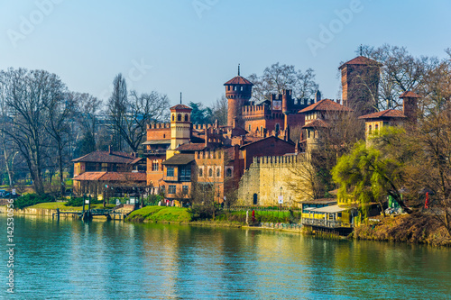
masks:
[(448, 0), (0, 0), (0, 68), (45, 69), (104, 100), (122, 72), (129, 89), (211, 105), (238, 63), (246, 77), (280, 62), (313, 68), (336, 98), (360, 44), (444, 57), (450, 13)]

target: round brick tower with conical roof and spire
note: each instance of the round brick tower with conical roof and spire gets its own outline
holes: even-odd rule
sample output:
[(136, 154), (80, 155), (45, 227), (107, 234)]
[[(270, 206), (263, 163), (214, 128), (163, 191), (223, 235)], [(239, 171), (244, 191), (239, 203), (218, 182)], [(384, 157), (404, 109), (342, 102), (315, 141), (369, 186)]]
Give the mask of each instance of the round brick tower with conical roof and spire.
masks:
[(228, 99), (227, 125), (244, 127), (243, 106), (249, 105), (253, 93), (253, 83), (240, 76), (240, 66), (238, 65), (238, 76), (227, 81), (226, 98)]

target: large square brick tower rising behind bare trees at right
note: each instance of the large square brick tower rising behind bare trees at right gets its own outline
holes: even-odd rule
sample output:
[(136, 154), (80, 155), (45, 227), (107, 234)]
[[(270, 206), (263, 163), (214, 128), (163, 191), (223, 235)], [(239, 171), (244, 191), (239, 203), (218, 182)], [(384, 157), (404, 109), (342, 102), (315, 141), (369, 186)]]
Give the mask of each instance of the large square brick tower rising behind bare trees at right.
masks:
[(343, 105), (354, 109), (357, 115), (374, 113), (381, 63), (359, 56), (345, 62), (339, 69)]

